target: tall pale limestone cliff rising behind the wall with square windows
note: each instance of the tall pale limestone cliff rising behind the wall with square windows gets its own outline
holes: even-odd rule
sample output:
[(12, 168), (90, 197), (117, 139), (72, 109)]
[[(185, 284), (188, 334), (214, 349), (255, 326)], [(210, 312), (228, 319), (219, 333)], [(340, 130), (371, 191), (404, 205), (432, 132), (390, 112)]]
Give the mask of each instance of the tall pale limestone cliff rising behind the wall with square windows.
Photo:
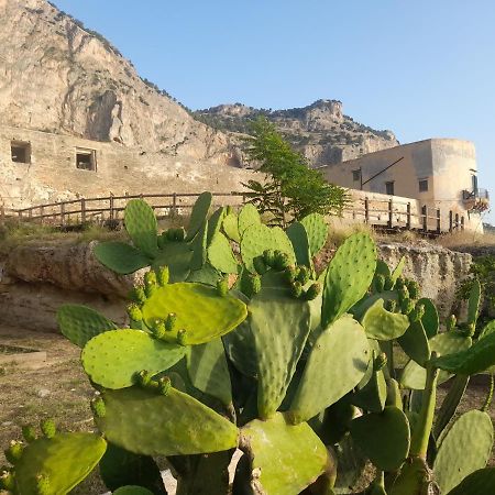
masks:
[(228, 146), (108, 41), (45, 0), (0, 0), (0, 121), (179, 158)]

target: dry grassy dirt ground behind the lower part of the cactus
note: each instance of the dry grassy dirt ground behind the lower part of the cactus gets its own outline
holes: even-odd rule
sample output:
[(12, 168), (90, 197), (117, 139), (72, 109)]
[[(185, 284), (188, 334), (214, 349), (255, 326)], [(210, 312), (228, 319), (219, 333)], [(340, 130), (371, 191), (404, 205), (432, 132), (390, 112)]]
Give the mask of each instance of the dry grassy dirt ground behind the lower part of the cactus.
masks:
[[(79, 363), (80, 350), (65, 338), (25, 329), (2, 327), (0, 343), (46, 351), (47, 361), (42, 366), (0, 365), (0, 465), (6, 460), (3, 449), (12, 439), (21, 439), (23, 425), (37, 425), (54, 418), (61, 430), (94, 429), (89, 399), (94, 391)], [(449, 385), (439, 388), (439, 403)], [(486, 376), (472, 380), (461, 403), (460, 413), (480, 408), (488, 389)], [(490, 410), (495, 420), (495, 406)], [(495, 450), (492, 455), (495, 465)], [(105, 486), (96, 471), (73, 494), (102, 494)]]

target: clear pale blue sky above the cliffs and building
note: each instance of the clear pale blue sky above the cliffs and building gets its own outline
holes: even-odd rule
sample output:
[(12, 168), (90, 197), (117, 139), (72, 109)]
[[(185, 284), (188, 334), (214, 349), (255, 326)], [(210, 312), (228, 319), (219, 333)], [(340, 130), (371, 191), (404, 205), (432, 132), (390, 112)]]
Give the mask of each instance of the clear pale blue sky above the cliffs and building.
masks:
[(494, 0), (54, 0), (193, 109), (344, 112), (402, 143), (476, 145), (495, 223)]

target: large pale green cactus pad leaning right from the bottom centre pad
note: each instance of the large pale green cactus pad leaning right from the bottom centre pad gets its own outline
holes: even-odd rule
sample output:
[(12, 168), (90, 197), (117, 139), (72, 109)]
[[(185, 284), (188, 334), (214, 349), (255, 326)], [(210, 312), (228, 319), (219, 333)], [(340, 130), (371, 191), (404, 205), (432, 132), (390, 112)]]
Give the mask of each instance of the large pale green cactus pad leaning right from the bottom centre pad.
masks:
[(290, 406), (293, 422), (307, 421), (352, 391), (364, 376), (371, 358), (363, 327), (345, 315), (315, 343)]

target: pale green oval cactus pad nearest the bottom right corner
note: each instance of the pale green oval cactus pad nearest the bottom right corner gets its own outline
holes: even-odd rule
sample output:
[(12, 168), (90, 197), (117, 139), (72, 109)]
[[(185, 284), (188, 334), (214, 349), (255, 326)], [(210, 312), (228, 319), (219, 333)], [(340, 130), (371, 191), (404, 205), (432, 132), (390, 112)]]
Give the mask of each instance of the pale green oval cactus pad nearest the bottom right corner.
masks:
[(443, 437), (433, 463), (435, 477), (449, 493), (476, 470), (486, 466), (493, 447), (493, 425), (480, 410), (463, 414)]

